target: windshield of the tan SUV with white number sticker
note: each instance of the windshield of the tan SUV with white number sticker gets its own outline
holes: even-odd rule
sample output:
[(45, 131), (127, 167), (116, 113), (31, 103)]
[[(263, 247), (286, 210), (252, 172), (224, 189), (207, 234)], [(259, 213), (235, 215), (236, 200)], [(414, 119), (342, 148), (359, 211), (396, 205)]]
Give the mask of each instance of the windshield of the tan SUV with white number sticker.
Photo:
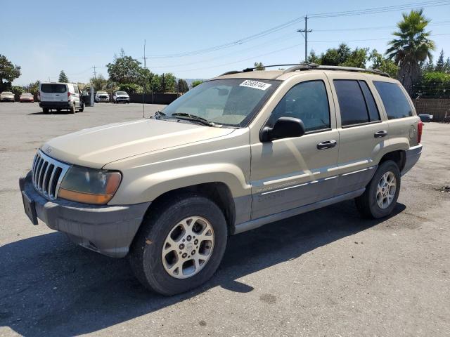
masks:
[(203, 82), (163, 110), (172, 114), (191, 114), (214, 124), (246, 126), (280, 84), (262, 79), (216, 79)]

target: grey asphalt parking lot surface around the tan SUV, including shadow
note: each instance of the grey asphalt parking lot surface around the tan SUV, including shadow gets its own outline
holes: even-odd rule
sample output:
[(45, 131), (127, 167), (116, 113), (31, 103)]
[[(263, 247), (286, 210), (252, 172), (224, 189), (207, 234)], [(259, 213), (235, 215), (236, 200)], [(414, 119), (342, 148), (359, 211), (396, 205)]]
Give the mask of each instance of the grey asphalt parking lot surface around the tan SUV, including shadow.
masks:
[(363, 220), (345, 201), (236, 235), (210, 282), (163, 297), (126, 259), (33, 226), (18, 188), (45, 140), (142, 114), (0, 103), (0, 336), (449, 336), (449, 124), (425, 124), (390, 218)]

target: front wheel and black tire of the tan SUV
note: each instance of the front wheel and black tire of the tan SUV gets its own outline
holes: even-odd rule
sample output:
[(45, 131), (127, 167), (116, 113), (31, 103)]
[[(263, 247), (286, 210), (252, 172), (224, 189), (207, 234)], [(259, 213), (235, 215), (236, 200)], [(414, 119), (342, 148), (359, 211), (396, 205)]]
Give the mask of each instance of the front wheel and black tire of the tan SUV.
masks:
[(197, 194), (162, 202), (143, 220), (129, 263), (148, 289), (169, 296), (205, 283), (219, 267), (227, 240), (221, 209)]

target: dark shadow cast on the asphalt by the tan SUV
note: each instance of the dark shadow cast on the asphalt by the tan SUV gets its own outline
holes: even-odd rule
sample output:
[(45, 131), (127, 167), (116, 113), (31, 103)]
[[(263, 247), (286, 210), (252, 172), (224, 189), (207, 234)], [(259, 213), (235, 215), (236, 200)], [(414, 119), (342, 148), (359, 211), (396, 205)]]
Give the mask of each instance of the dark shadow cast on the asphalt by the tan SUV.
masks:
[[(406, 209), (397, 204), (392, 216)], [(0, 326), (23, 336), (74, 336), (146, 315), (221, 286), (255, 289), (236, 281), (356, 234), (386, 220), (362, 220), (352, 201), (278, 221), (229, 238), (212, 279), (179, 296), (151, 293), (113, 259), (68, 242), (59, 232), (0, 247)]]

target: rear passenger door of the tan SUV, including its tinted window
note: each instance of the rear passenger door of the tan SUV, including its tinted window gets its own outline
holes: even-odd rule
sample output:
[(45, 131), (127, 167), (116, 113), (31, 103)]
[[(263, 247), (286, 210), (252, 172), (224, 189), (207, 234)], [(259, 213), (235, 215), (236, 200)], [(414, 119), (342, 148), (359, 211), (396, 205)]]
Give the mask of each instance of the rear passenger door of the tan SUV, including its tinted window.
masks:
[(389, 126), (363, 74), (328, 73), (336, 104), (340, 151), (335, 195), (364, 188), (387, 146)]

